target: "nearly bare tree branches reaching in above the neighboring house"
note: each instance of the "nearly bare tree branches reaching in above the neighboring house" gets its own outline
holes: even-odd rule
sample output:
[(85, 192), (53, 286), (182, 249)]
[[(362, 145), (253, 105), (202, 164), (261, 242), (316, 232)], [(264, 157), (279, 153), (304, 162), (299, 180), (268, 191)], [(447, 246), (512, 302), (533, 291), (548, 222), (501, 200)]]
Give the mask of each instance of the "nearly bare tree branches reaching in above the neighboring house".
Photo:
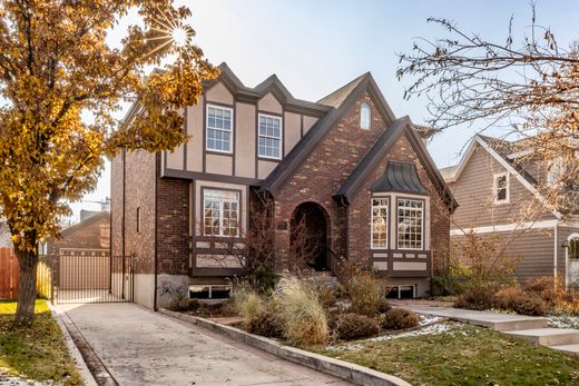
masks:
[(513, 165), (539, 164), (551, 178), (538, 188), (552, 208), (579, 212), (579, 44), (559, 46), (550, 28), (531, 23), (522, 38), (511, 18), (504, 41), (469, 33), (446, 19), (430, 18), (449, 37), (418, 39), (400, 55), (398, 77), (412, 78), (405, 98), (425, 95), (429, 123), (445, 129), (508, 127), (519, 140), (503, 146)]

